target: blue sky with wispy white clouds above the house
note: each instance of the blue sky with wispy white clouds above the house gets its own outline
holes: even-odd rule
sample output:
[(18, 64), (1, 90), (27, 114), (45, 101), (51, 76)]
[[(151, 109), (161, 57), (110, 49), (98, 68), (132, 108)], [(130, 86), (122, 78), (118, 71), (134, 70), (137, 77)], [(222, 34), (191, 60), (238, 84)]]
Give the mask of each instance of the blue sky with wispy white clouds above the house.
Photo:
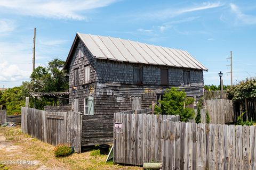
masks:
[(209, 71), (204, 84), (256, 76), (255, 1), (1, 0), (0, 88), (20, 86), (36, 66), (66, 61), (76, 32), (187, 50)]

